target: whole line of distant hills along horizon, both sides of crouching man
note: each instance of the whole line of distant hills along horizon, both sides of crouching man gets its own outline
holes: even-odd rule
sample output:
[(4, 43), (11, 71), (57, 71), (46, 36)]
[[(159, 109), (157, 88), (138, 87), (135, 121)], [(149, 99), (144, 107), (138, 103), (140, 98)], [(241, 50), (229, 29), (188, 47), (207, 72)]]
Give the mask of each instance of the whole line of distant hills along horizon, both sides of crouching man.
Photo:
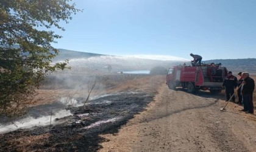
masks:
[[(150, 70), (155, 66), (162, 66), (168, 69), (171, 66), (183, 64), (184, 61), (161, 61), (143, 58), (118, 57), (115, 55), (102, 55), (87, 52), (77, 52), (73, 50), (59, 49), (60, 53), (54, 58), (54, 61), (63, 61), (69, 59), (69, 66), (74, 71), (84, 71), (90, 69), (93, 71), (107, 71), (107, 67), (112, 67), (112, 72), (130, 71), (130, 70)], [(221, 63), (227, 67), (233, 74), (247, 71), (256, 74), (256, 58), (247, 59), (225, 59), (225, 60), (207, 60), (202, 63)], [(186, 64), (190, 64), (186, 62)]]

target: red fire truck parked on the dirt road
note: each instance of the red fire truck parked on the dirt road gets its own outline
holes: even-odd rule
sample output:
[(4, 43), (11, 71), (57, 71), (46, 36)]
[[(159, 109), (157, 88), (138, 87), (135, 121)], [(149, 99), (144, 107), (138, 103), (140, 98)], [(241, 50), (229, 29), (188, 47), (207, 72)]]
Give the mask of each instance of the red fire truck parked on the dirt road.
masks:
[(219, 64), (202, 64), (201, 66), (174, 66), (169, 68), (166, 75), (166, 85), (169, 89), (176, 89), (177, 86), (187, 88), (187, 91), (194, 93), (199, 89), (209, 90), (212, 93), (222, 91), (222, 82), (227, 76), (226, 67)]

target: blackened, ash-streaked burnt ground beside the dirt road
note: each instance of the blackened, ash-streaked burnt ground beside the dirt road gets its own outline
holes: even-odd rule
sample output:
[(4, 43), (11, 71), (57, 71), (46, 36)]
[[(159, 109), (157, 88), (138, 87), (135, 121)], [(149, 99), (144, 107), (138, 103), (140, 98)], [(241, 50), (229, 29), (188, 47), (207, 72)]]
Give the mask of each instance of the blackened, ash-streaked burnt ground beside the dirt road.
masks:
[(143, 111), (153, 97), (154, 94), (143, 92), (121, 93), (97, 98), (85, 107), (68, 108), (73, 115), (55, 119), (60, 122), (58, 125), (1, 134), (1, 151), (23, 151), (24, 144), (21, 142), (25, 139), (31, 141), (35, 137), (41, 139), (31, 142), (28, 151), (99, 150), (99, 143), (105, 142), (99, 134), (118, 133), (118, 129)]

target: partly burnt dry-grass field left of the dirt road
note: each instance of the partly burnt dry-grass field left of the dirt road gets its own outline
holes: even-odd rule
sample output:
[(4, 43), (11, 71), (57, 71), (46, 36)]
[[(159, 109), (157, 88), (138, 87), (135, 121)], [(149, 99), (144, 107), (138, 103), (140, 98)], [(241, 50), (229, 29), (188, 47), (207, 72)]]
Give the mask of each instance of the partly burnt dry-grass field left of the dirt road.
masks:
[[(45, 83), (37, 91), (37, 103), (23, 117), (26, 120), (30, 118), (31, 125), (25, 125), (25, 119), (21, 119), (14, 125), (1, 126), (0, 130), (4, 132), (0, 135), (0, 151), (99, 150), (99, 143), (106, 141), (99, 134), (118, 133), (129, 119), (144, 111), (146, 105), (154, 100), (165, 77), (107, 75), (97, 80), (99, 86), (93, 89), (86, 103), (88, 89), (85, 88), (91, 84), (88, 78), (79, 81), (80, 84), (84, 82), (84, 88), (78, 85), (71, 87), (62, 80), (58, 83), (54, 80), (54, 85)], [(20, 128), (20, 124), (23, 127)], [(8, 130), (9, 127), (14, 131)]]

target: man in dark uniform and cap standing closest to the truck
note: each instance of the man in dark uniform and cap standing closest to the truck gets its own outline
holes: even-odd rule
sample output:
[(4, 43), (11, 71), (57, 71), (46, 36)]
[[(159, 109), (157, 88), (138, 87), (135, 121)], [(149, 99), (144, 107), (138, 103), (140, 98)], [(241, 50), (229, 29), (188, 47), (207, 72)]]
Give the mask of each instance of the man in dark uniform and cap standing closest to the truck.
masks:
[[(229, 71), (229, 75), (225, 78), (222, 86), (225, 86), (226, 91), (226, 101), (229, 101), (230, 97), (234, 94), (235, 88), (237, 87), (237, 78), (232, 75), (232, 72)], [(233, 102), (235, 102), (235, 95), (232, 97)]]

